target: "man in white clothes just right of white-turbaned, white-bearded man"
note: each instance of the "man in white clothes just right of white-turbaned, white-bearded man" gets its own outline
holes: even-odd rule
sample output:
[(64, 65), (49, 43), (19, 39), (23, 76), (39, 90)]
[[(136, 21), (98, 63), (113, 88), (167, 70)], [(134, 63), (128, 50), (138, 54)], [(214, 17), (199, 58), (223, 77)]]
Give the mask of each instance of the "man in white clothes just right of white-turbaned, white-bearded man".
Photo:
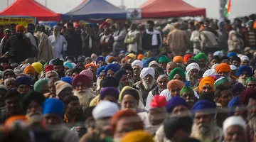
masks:
[(159, 95), (164, 89), (167, 89), (168, 78), (166, 75), (160, 75), (156, 81), (156, 87), (149, 92), (146, 98), (146, 110), (149, 110), (149, 104), (154, 96)]

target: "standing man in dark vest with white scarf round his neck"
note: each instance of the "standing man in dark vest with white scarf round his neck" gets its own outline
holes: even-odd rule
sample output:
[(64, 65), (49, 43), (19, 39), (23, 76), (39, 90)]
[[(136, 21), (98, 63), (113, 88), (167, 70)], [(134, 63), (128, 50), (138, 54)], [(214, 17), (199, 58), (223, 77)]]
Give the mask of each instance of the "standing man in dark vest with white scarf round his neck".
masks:
[(154, 21), (147, 21), (146, 31), (142, 35), (142, 49), (146, 53), (151, 51), (154, 55), (158, 55), (159, 48), (162, 45), (161, 33), (154, 29)]

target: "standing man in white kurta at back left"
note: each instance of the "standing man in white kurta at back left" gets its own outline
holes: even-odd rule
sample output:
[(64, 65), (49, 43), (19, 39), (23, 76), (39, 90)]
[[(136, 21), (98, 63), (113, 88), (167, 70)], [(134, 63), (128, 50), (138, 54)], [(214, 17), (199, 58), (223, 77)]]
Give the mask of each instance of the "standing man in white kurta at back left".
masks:
[(60, 27), (53, 27), (53, 35), (50, 35), (50, 43), (53, 47), (53, 58), (63, 59), (63, 53), (67, 50), (68, 43), (63, 35), (60, 35)]

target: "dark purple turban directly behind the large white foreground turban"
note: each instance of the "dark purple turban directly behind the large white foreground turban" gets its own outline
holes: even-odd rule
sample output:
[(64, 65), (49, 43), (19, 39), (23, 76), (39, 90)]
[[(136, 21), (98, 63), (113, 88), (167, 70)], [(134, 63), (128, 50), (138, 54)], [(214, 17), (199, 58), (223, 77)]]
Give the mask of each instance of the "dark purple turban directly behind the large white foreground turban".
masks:
[(115, 87), (105, 87), (100, 91), (100, 100), (103, 100), (106, 96), (112, 96), (115, 99), (118, 99), (119, 91)]

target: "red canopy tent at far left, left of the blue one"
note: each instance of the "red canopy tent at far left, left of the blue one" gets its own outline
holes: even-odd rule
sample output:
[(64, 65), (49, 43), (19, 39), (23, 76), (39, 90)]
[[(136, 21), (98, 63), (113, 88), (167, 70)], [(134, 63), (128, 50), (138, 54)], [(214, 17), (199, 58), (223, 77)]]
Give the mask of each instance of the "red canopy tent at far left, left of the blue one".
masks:
[(50, 11), (34, 0), (16, 0), (0, 16), (32, 16), (36, 21), (60, 21), (60, 14)]

